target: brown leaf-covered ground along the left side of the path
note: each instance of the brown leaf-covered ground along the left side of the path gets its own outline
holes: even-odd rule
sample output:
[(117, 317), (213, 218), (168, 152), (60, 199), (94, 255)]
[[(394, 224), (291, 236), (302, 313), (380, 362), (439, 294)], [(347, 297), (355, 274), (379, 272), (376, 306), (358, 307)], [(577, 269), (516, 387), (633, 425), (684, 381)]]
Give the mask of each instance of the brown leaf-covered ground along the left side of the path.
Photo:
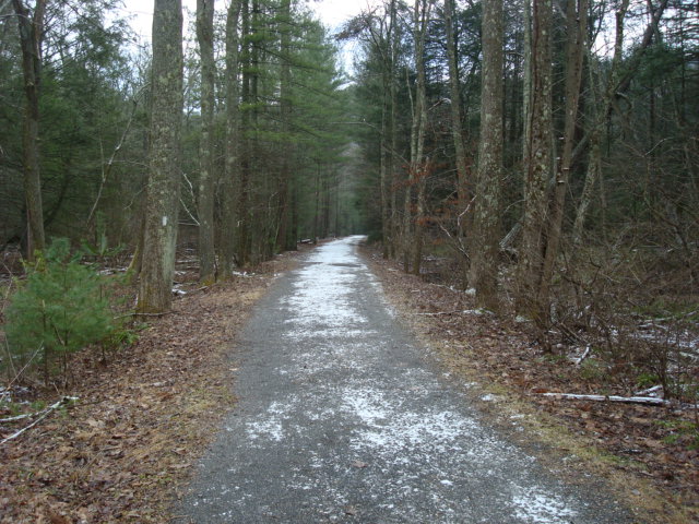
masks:
[[(70, 388), (13, 389), (0, 419), (16, 414), (11, 407), (40, 410), (63, 395), (78, 400), (0, 444), (0, 522), (168, 522), (192, 463), (235, 404), (236, 335), (274, 278), (307, 250), (204, 289), (197, 267), (178, 263), (171, 313), (149, 318), (135, 343), (106, 362), (97, 349), (79, 354)], [(0, 421), (0, 441), (29, 420)]]

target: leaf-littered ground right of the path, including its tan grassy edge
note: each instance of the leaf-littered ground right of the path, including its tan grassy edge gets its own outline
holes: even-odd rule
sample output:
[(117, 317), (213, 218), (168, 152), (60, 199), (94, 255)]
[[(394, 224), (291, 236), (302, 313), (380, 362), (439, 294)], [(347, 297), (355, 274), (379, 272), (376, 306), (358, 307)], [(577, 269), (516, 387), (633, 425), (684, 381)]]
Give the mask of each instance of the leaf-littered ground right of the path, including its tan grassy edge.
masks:
[(377, 250), (365, 254), (394, 307), (494, 422), (524, 427), (522, 444), (543, 445), (552, 467), (605, 477), (641, 522), (699, 522), (696, 408), (545, 396), (626, 393), (544, 352), (526, 324), (479, 311), (469, 294), (406, 274)]

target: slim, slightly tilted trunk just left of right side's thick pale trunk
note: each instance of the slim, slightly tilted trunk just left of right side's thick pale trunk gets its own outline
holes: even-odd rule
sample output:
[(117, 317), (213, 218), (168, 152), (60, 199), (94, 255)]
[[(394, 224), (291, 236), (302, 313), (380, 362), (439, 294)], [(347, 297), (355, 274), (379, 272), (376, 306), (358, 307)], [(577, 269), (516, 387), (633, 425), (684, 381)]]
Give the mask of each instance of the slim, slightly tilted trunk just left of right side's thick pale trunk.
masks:
[[(457, 50), (457, 33), (454, 31), (454, 0), (445, 0), (445, 25), (447, 32), (447, 55), (449, 61), (449, 92), (451, 96), (451, 138), (454, 143), (457, 156), (457, 195), (459, 212), (458, 239), (460, 248), (465, 248), (467, 219), (461, 210), (467, 210), (471, 195), (469, 192), (469, 167), (466, 163), (466, 147), (462, 131), (463, 116), (461, 114), (461, 85), (459, 82), (459, 57)], [(483, 22), (486, 27), (485, 20)], [(489, 29), (488, 29), (489, 31)], [(501, 69), (501, 68), (500, 68)], [(501, 112), (501, 111), (500, 111)], [(461, 258), (463, 286), (467, 285), (469, 259), (465, 254)]]

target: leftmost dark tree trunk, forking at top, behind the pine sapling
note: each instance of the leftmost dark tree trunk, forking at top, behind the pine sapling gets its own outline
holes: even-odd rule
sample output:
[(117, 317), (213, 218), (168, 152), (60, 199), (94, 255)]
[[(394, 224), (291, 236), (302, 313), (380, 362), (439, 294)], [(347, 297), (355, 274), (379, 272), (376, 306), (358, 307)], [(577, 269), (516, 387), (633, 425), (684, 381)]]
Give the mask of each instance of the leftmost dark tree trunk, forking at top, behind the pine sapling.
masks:
[(20, 29), (22, 73), (24, 76), (24, 122), (22, 127), (24, 198), (26, 202), (26, 258), (44, 249), (44, 210), (39, 174), (39, 86), (42, 81), (42, 37), (46, 0), (36, 0), (34, 12), (22, 0), (13, 0)]

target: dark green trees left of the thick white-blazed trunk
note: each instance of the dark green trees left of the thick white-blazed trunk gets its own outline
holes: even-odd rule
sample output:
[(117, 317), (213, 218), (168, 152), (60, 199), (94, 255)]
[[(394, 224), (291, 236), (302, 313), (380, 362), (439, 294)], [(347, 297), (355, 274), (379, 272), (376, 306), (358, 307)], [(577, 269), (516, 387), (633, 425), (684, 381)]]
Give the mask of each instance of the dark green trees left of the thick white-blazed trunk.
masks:
[(107, 22), (111, 7), (91, 0), (0, 8), (3, 247), (21, 242), (33, 254), (42, 229), (94, 241), (107, 222), (112, 245), (130, 236), (123, 209), (138, 192), (144, 158), (143, 79), (138, 66), (126, 67), (128, 33), (123, 21)]

